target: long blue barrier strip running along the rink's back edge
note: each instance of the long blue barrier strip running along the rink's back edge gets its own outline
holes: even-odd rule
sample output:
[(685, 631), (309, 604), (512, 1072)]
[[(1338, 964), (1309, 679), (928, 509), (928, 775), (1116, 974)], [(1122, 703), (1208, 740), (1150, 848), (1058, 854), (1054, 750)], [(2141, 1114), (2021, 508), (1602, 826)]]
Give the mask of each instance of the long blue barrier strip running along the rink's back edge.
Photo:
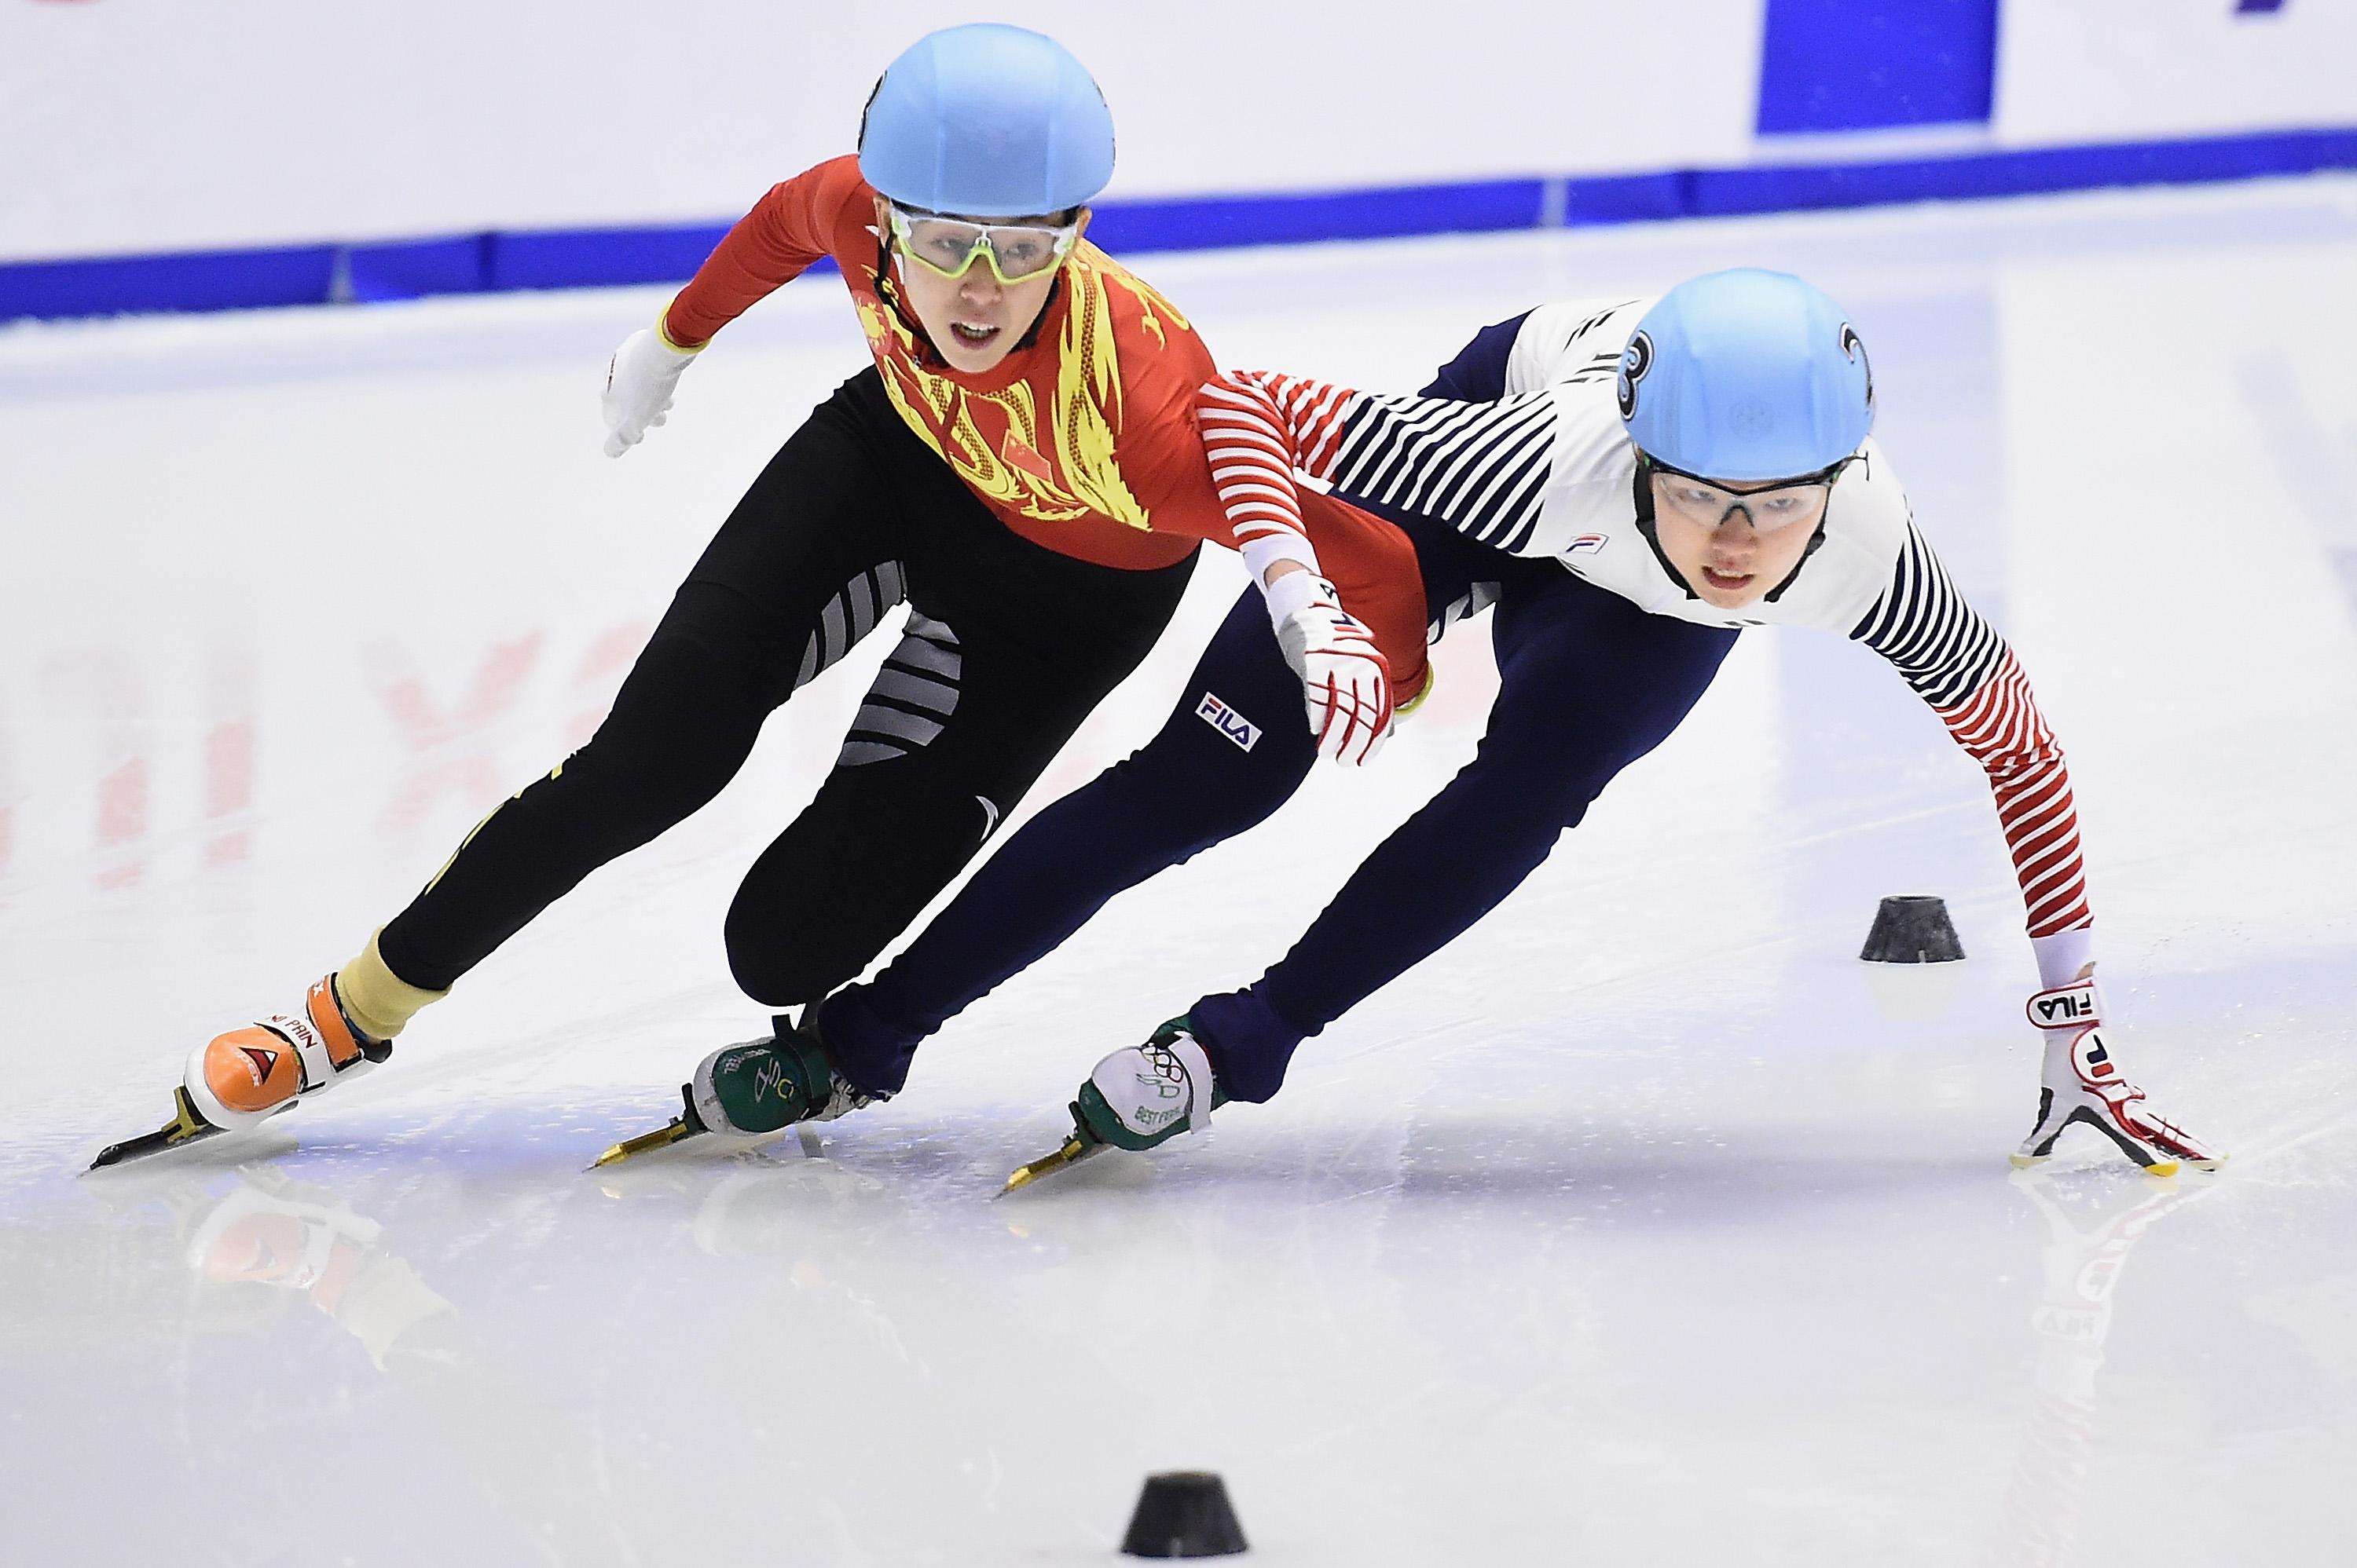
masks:
[[(1989, 148), (1874, 162), (1756, 162), (1657, 174), (1115, 200), (1098, 210), (1089, 238), (1113, 252), (1141, 254), (1589, 228), (2326, 170), (2357, 170), (2357, 127)], [(726, 231), (726, 221), (707, 221), (14, 261), (0, 264), (0, 320), (676, 283), (695, 271)]]

